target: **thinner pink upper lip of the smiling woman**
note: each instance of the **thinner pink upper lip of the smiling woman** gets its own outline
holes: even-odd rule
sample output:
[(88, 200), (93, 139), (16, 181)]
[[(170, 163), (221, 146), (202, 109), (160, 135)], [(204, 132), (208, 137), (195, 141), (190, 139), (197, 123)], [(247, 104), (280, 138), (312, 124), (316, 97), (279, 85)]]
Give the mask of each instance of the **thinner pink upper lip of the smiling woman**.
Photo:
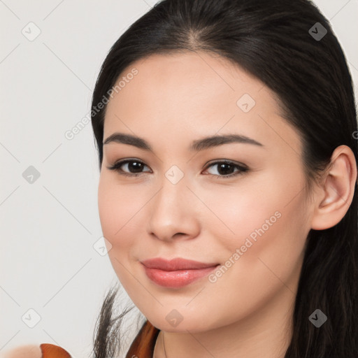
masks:
[(176, 270), (197, 270), (199, 268), (208, 268), (217, 266), (217, 263), (197, 262), (188, 259), (182, 259), (177, 257), (176, 259), (167, 260), (162, 257), (157, 257), (155, 259), (148, 259), (141, 261), (141, 263), (148, 268), (158, 268), (159, 270), (164, 271), (176, 271)]

